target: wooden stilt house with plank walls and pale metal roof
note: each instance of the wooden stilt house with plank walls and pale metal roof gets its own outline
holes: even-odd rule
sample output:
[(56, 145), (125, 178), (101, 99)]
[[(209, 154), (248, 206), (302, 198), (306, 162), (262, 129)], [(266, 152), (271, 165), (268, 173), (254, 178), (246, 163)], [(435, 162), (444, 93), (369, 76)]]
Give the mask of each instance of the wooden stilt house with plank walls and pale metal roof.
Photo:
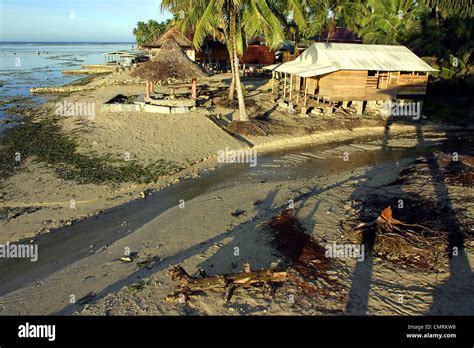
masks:
[(273, 92), (301, 108), (420, 98), (436, 71), (405, 46), (348, 43), (314, 43), (297, 59), (265, 69)]

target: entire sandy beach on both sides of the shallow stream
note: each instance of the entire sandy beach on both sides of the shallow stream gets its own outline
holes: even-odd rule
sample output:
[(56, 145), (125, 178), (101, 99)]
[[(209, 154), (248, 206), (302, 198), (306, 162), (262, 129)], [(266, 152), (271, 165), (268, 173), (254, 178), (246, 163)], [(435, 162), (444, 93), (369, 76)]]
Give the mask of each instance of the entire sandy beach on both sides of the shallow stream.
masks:
[[(460, 305), (474, 289), (473, 282), (469, 280), (459, 285), (452, 281), (448, 260), (433, 271), (400, 266), (381, 257), (374, 257), (370, 264), (364, 263), (362, 267), (368, 267), (366, 271), (361, 271), (361, 266), (353, 259), (334, 260), (324, 270), (325, 277), (318, 277), (309, 283), (309, 287), (302, 287), (294, 280), (274, 291), (238, 291), (231, 304), (226, 303), (222, 293), (212, 291), (192, 297), (186, 304), (167, 301), (176, 285), (168, 274), (171, 265), (179, 264), (190, 274), (201, 269), (208, 275), (241, 271), (245, 262), (254, 270), (287, 269), (288, 260), (275, 250), (268, 223), (285, 211), (289, 200), (294, 201), (291, 211), (305, 233), (321, 245), (346, 241), (340, 229), (341, 221), (357, 212), (357, 202), (374, 195), (382, 197), (386, 205), (396, 204), (402, 192), (407, 195), (408, 192), (423, 191), (424, 198), (420, 201), (439, 200), (444, 202), (441, 207), (449, 199), (450, 209), (456, 212), (454, 215), (463, 225), (469, 225), (472, 210), (463, 209), (463, 200), (472, 197), (472, 187), (449, 184), (445, 188), (449, 197), (460, 199), (438, 197), (436, 182), (428, 187), (422, 178), (412, 184), (403, 181), (402, 173), (407, 168), (418, 166), (416, 172), (426, 171), (427, 164), (417, 163), (415, 153), (396, 155), (396, 152), (394, 157), (387, 157), (383, 149), (401, 151), (421, 147), (426, 152), (430, 146), (456, 139), (457, 133), (470, 132), (462, 127), (427, 122), (422, 125), (394, 123), (387, 127), (385, 120), (375, 114), (363, 119), (340, 114), (301, 117), (289, 116), (284, 110), (276, 109), (269, 114), (272, 121), (266, 125), (267, 136), (236, 137), (223, 131), (219, 123), (208, 117), (219, 115), (225, 124), (235, 112), (223, 103), (226, 87), (221, 82), (222, 76), (201, 82), (211, 90), (221, 91), (222, 95), (209, 98), (212, 103), (189, 114), (102, 112), (100, 105), (124, 90), (127, 95), (143, 93), (141, 84), (133, 85), (133, 81), (127, 79), (127, 75), (122, 74), (96, 78), (84, 85), (91, 89), (57, 97), (39, 109), (17, 111), (41, 120), (51, 117), (57, 103), (64, 100), (93, 102), (95, 117), (61, 117), (57, 120), (60, 132), (73, 136), (77, 142), (78, 153), (113, 158), (118, 165), (120, 161), (127, 162), (126, 158), (142, 166), (164, 160), (176, 164), (179, 171), (147, 183), (97, 184), (65, 179), (58, 175), (53, 165), (35, 157), (16, 167), (1, 183), (0, 243), (25, 239), (46, 241), (50, 234), (55, 238), (53, 235), (60, 233), (62, 230), (58, 228), (61, 227), (83, 230), (81, 221), (94, 215), (97, 223), (105, 228), (110, 222), (100, 221), (109, 219), (106, 216), (112, 214), (110, 216), (118, 226), (112, 228), (126, 228), (130, 234), (127, 232), (111, 243), (86, 241), (90, 244), (89, 257), (81, 256), (71, 264), (64, 264), (57, 272), (46, 273), (46, 278), (39, 283), (22, 286), (2, 296), (3, 313), (393, 315), (473, 311), (473, 308)], [(159, 88), (166, 90), (167, 87)], [(267, 85), (261, 81), (252, 83), (249, 79), (247, 88), (251, 101), (249, 110), (254, 115), (261, 115), (271, 104)], [(357, 145), (360, 139), (361, 143)], [(233, 169), (218, 163), (217, 153), (225, 148), (257, 151), (264, 160), (259, 165), (260, 171), (242, 174), (242, 165)], [(282, 151), (289, 153), (272, 157)], [(352, 160), (344, 164), (342, 156), (346, 152), (351, 154)], [(437, 153), (437, 156), (446, 156), (442, 151)], [(321, 162), (312, 164), (313, 167), (301, 167), (300, 171), (306, 173), (301, 177), (292, 178), (291, 171), (288, 176), (285, 176), (286, 171), (278, 176), (286, 163), (303, 165), (301, 158), (304, 157)], [(321, 168), (327, 168), (318, 174), (321, 165)], [(227, 171), (220, 174), (224, 167)], [(216, 179), (210, 174), (213, 170), (216, 170)], [(312, 170), (315, 175), (308, 175)], [(235, 175), (234, 181), (232, 175)], [(249, 181), (252, 175), (259, 179)], [(425, 179), (429, 181), (432, 173), (420, 175), (426, 175)], [(196, 182), (193, 186), (202, 176), (207, 184)], [(207, 176), (210, 179), (206, 179)], [(138, 209), (127, 208), (127, 202), (138, 202), (138, 206), (145, 207), (149, 199), (160, 201), (159, 190), (176, 186), (181, 192), (181, 184), (187, 185), (188, 192), (192, 187), (200, 190), (195, 198), (191, 195), (189, 199), (183, 199), (184, 209), (180, 206), (180, 197), (184, 198), (186, 193), (181, 193), (181, 196), (170, 196), (176, 202), (171, 202), (151, 221), (145, 217), (146, 209), (132, 221), (122, 221), (120, 214), (128, 209)], [(207, 185), (208, 189), (201, 189)], [(377, 209), (380, 207), (383, 205)], [(120, 213), (122, 210), (124, 213)], [(236, 211), (244, 213), (236, 214)], [(229, 221), (232, 222), (229, 224)], [(93, 230), (93, 225), (90, 228)], [(104, 233), (107, 235), (108, 232)], [(132, 262), (120, 261), (124, 248), (134, 251)], [(460, 266), (457, 276), (472, 279), (469, 265), (473, 264), (473, 255), (470, 249), (467, 250), (464, 257), (467, 268)], [(27, 274), (16, 282), (28, 283)], [(369, 278), (367, 274), (370, 274)], [(295, 279), (301, 282), (300, 278)], [(10, 284), (12, 290), (14, 284)], [(53, 289), (55, 296), (51, 296)], [(461, 300), (450, 297), (440, 300), (440, 291), (457, 292)], [(69, 294), (81, 300), (68, 304)], [(21, 304), (17, 301), (19, 297), (24, 299)], [(31, 306), (25, 301), (31, 302)]]

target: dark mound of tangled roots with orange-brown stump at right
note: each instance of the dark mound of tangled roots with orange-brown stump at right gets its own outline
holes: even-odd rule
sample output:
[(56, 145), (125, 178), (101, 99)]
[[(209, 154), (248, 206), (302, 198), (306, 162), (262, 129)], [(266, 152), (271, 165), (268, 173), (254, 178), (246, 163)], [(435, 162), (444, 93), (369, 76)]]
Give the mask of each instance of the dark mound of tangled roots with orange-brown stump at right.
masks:
[(449, 257), (474, 241), (473, 164), (467, 155), (421, 156), (395, 182), (354, 201), (355, 212), (341, 222), (345, 238), (393, 263), (444, 269)]

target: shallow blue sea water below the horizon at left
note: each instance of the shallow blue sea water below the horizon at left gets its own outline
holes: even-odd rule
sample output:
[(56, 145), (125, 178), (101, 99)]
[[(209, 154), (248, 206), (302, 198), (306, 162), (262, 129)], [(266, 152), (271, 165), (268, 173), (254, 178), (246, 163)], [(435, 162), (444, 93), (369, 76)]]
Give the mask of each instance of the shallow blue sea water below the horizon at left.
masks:
[[(0, 118), (8, 116), (5, 109), (17, 103), (14, 99), (29, 96), (32, 87), (61, 86), (81, 78), (64, 76), (62, 70), (79, 69), (82, 64), (105, 63), (103, 53), (128, 50), (133, 45), (0, 42)], [(41, 96), (34, 97), (33, 102), (42, 100)]]

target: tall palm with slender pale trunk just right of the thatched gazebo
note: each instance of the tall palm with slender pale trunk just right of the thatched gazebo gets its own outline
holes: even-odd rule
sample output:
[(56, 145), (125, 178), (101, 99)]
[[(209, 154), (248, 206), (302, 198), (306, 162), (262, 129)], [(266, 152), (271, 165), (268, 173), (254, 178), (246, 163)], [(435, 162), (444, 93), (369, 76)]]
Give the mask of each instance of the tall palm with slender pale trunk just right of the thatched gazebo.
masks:
[[(299, 1), (286, 2), (286, 10), (299, 17)], [(240, 121), (248, 121), (242, 82), (239, 73), (239, 56), (248, 38), (264, 35), (271, 47), (283, 41), (284, 33), (277, 0), (163, 0), (162, 8), (178, 14), (182, 30), (194, 30), (194, 45), (200, 48), (206, 37), (216, 31), (225, 37), (231, 60), (232, 82), (229, 97), (237, 92)]]

